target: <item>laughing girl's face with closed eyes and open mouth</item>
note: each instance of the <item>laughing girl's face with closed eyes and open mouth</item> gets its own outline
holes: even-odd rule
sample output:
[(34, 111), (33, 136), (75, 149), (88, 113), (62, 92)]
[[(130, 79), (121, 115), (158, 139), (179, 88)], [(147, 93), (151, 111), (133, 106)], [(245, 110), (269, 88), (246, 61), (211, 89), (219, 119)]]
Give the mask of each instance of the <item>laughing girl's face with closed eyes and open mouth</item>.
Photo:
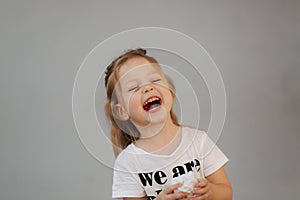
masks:
[(143, 57), (126, 61), (119, 69), (121, 104), (138, 126), (164, 123), (173, 105), (172, 93), (162, 70)]

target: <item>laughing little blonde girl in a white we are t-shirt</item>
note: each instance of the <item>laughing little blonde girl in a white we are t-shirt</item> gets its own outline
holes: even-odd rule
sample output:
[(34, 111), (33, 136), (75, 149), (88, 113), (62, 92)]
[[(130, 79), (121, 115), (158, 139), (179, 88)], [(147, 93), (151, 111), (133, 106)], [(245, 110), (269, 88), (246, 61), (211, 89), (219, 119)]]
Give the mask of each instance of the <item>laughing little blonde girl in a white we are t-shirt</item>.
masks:
[[(106, 69), (105, 87), (117, 156), (113, 198), (232, 199), (227, 157), (205, 132), (179, 125), (174, 84), (146, 50), (115, 59)], [(184, 177), (189, 181), (174, 184)]]

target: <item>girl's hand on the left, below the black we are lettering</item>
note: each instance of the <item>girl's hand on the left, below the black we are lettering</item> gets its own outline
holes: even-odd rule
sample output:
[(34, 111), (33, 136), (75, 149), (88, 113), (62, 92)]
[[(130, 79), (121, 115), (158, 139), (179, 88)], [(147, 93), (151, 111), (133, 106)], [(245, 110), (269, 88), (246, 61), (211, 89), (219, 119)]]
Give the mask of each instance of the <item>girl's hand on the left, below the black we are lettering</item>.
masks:
[(172, 185), (167, 187), (166, 189), (162, 190), (159, 195), (155, 198), (155, 200), (177, 200), (177, 199), (186, 199), (187, 193), (185, 192), (178, 192), (174, 193), (174, 190), (182, 186), (182, 184), (178, 183), (176, 185)]

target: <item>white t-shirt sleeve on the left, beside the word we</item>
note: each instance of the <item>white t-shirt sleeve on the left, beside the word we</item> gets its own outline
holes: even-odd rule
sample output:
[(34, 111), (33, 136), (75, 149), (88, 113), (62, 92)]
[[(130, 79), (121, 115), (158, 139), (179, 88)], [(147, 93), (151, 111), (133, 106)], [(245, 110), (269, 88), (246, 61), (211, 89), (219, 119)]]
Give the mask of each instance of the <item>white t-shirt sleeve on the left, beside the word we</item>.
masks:
[(137, 173), (130, 166), (130, 158), (120, 156), (114, 165), (112, 198), (144, 197), (146, 194), (137, 180)]

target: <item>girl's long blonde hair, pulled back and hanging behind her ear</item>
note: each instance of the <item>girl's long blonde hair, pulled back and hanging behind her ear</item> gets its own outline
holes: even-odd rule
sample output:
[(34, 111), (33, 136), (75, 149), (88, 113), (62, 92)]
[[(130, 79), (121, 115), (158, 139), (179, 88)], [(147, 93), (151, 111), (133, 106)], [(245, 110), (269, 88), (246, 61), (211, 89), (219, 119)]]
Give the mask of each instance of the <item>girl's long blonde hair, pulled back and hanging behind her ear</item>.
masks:
[[(114, 117), (112, 106), (118, 103), (118, 98), (114, 92), (115, 86), (119, 80), (118, 72), (122, 64), (124, 64), (128, 59), (133, 57), (143, 57), (147, 59), (150, 63), (155, 63), (159, 66), (158, 62), (151, 56), (146, 55), (145, 49), (133, 49), (120, 55), (118, 58), (112, 61), (112, 63), (106, 68), (105, 71), (105, 88), (106, 88), (106, 103), (104, 106), (105, 114), (111, 121), (110, 130), (110, 140), (113, 145), (113, 150), (115, 156), (117, 156), (120, 151), (125, 149), (130, 143), (137, 140), (140, 136), (139, 131), (133, 125), (130, 120), (122, 121)], [(166, 76), (167, 77), (167, 76)], [(175, 86), (173, 81), (167, 77), (170, 91), (175, 100)], [(170, 111), (172, 122), (175, 125), (179, 125), (178, 118), (173, 110)]]

